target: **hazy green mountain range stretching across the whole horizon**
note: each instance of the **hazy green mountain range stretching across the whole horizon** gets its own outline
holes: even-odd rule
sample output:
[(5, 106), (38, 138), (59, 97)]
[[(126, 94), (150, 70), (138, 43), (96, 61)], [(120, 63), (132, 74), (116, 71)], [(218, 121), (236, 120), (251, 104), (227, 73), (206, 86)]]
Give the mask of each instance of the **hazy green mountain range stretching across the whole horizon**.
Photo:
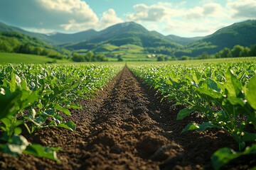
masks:
[(182, 38), (176, 35), (165, 36), (156, 31), (146, 30), (134, 22), (118, 23), (100, 31), (90, 29), (80, 33), (52, 33), (48, 35), (31, 33), (21, 28), (0, 23), (0, 31), (23, 33), (43, 40), (50, 45), (65, 47), (68, 50), (93, 50), (104, 44), (115, 46), (132, 44), (144, 47), (148, 51), (161, 49), (162, 52), (169, 55), (192, 57), (200, 55), (202, 52), (214, 54), (224, 47), (233, 48), (234, 45), (250, 47), (250, 45), (256, 44), (255, 20), (234, 23), (211, 35), (196, 38)]

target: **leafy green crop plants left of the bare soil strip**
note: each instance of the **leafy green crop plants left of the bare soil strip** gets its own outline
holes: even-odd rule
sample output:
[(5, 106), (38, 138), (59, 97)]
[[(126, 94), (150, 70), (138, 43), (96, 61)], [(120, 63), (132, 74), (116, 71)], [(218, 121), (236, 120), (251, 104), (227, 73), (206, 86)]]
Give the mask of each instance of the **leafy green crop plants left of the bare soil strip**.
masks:
[(59, 148), (32, 145), (21, 135), (21, 125), (29, 134), (39, 128), (60, 127), (75, 130), (60, 111), (81, 108), (78, 101), (90, 98), (105, 86), (122, 65), (0, 64), (0, 151), (46, 157), (57, 162)]

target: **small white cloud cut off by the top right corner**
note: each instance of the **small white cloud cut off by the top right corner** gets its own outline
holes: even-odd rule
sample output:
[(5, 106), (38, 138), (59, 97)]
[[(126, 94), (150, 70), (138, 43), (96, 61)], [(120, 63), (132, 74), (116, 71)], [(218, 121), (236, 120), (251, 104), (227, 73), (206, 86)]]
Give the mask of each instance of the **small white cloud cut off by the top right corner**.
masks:
[(226, 6), (232, 18), (256, 18), (256, 0), (230, 0)]

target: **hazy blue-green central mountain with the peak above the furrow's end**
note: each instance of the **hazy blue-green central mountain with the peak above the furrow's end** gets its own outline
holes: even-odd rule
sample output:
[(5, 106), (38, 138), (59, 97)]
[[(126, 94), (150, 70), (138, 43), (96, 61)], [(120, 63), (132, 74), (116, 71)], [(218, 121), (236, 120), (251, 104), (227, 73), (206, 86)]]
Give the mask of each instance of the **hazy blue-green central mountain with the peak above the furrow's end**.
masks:
[[(164, 37), (164, 35), (162, 35)], [(110, 43), (112, 45), (139, 45), (140, 47), (172, 47), (172, 48), (182, 48), (176, 42), (171, 42), (166, 38), (161, 38), (151, 31), (146, 30), (143, 26), (134, 23), (119, 23), (114, 26), (110, 26), (105, 30), (101, 30), (95, 36), (88, 40), (78, 42), (72, 45), (66, 45), (68, 49), (79, 50), (79, 49), (93, 49), (98, 45)]]

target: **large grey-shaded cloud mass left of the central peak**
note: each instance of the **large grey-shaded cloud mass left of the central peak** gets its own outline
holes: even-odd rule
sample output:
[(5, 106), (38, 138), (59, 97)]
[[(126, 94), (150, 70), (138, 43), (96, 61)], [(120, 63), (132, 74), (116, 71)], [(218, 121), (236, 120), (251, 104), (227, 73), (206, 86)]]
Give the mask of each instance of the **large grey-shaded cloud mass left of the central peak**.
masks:
[(99, 19), (81, 0), (1, 0), (0, 20), (23, 28), (66, 32), (105, 28), (122, 22), (113, 9)]

